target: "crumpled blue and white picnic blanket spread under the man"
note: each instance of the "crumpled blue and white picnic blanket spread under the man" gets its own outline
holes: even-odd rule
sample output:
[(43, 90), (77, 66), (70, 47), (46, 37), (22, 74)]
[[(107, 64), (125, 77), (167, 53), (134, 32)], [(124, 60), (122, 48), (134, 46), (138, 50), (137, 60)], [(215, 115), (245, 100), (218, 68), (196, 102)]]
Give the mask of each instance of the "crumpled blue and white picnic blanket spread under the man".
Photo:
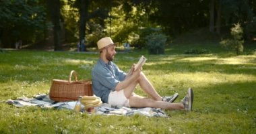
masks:
[[(19, 97), (15, 100), (5, 100), (3, 101), (15, 107), (25, 107), (25, 106), (37, 106), (41, 108), (53, 108), (53, 109), (69, 109), (73, 110), (76, 101), (67, 102), (55, 102), (49, 98), (47, 94), (38, 94), (33, 98), (27, 98), (26, 96)], [(83, 106), (82, 106), (83, 107)], [(87, 113), (84, 111), (83, 113)], [(97, 115), (145, 115), (147, 117), (168, 117), (164, 111), (155, 108), (129, 108), (129, 107), (111, 107), (107, 103), (103, 103), (102, 106), (96, 107), (94, 113)]]

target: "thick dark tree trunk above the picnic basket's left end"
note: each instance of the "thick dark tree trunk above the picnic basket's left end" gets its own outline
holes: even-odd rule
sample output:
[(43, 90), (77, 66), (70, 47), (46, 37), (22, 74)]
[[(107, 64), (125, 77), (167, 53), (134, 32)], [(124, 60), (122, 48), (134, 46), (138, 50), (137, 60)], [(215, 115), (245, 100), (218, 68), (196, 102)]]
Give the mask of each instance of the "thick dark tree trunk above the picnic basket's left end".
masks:
[(61, 44), (61, 2), (60, 0), (51, 1), (48, 0), (48, 5), (50, 8), (51, 19), (53, 22), (53, 39), (55, 44), (55, 51), (62, 50)]

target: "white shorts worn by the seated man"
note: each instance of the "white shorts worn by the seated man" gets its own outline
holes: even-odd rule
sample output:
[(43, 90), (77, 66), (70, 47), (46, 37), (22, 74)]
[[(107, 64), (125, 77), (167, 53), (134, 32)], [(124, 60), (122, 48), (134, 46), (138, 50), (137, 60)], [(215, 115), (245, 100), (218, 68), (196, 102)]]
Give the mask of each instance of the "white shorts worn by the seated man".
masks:
[(130, 107), (129, 99), (126, 98), (124, 91), (110, 91), (108, 95), (108, 104), (118, 107)]

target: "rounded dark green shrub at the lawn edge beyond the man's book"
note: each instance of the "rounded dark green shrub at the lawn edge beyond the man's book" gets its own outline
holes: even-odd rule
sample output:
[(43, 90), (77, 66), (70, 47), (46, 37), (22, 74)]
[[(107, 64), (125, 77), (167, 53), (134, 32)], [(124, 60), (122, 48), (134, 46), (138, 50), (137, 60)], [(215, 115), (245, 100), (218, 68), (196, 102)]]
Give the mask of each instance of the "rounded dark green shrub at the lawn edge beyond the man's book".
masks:
[(164, 34), (150, 34), (146, 36), (149, 54), (164, 54), (167, 37)]

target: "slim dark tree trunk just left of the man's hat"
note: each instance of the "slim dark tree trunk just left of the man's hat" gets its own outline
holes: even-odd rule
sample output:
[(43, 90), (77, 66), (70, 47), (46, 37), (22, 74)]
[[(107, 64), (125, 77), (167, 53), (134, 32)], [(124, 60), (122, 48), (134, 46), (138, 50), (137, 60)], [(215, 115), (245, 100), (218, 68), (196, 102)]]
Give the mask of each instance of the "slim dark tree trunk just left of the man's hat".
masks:
[(81, 0), (80, 1), (80, 7), (79, 7), (79, 21), (80, 21), (80, 25), (79, 25), (79, 49), (80, 51), (84, 52), (87, 51), (86, 50), (86, 21), (88, 19), (88, 5), (89, 5), (89, 1), (88, 0)]

